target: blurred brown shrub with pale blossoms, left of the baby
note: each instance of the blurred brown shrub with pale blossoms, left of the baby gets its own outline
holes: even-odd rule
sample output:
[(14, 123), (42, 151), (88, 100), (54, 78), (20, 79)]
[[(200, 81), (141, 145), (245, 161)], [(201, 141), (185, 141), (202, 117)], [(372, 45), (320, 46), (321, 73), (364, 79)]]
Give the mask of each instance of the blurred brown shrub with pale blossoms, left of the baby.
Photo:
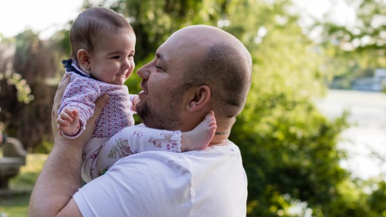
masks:
[[(4, 40), (3, 44), (11, 46), (13, 53), (8, 58), (0, 58), (0, 62), (7, 61), (1, 71), (6, 79), (1, 83), (0, 120), (5, 122), (10, 136), (20, 139), (33, 151), (37, 145), (52, 141), (47, 114), (51, 112), (57, 83), (52, 80), (59, 63), (52, 52), (56, 49), (31, 30)], [(49, 148), (45, 148), (44, 152), (48, 151)]]

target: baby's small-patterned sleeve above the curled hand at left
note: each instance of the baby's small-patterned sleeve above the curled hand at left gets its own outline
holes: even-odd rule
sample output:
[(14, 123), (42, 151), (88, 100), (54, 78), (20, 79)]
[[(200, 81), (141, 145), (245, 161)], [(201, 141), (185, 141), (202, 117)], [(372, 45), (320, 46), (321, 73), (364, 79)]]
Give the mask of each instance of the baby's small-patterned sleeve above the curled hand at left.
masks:
[[(71, 76), (72, 78), (72, 76)], [(71, 81), (66, 90), (58, 114), (65, 108), (79, 111), (80, 129), (85, 130), (87, 120), (92, 116), (95, 108), (95, 100), (101, 95), (101, 88), (89, 78), (78, 78)], [(80, 135), (77, 134), (77, 136)]]

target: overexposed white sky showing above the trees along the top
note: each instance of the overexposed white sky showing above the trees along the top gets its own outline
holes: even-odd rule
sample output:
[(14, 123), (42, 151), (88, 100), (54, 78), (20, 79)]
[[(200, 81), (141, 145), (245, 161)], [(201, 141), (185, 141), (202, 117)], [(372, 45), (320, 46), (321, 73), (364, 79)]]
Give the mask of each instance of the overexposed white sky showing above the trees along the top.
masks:
[[(338, 24), (349, 25), (355, 20), (355, 11), (344, 0), (332, 1), (333, 4), (329, 0), (293, 1), (302, 12), (303, 25), (311, 22), (310, 16), (323, 19), (330, 10), (331, 19)], [(41, 39), (47, 39), (76, 18), (82, 3), (83, 0), (0, 0), (0, 34), (9, 38), (29, 28), (40, 32)]]

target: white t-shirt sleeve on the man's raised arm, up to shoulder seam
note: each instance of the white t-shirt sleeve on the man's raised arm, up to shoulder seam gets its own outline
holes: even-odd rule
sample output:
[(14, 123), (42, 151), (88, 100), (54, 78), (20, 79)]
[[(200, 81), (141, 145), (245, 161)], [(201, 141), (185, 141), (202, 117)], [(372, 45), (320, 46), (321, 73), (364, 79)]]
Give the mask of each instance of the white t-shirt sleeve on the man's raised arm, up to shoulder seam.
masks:
[(73, 196), (84, 216), (188, 216), (185, 169), (156, 153), (125, 157)]

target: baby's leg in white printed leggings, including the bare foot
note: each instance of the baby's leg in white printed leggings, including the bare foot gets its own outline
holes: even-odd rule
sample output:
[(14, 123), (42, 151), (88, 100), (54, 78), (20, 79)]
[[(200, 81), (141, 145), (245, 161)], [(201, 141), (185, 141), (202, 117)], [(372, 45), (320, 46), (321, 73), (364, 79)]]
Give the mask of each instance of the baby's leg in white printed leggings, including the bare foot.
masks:
[(110, 138), (98, 151), (88, 155), (82, 171), (91, 171), (91, 174), (86, 174), (86, 181), (90, 181), (104, 174), (119, 159), (135, 153), (202, 150), (208, 147), (216, 128), (213, 112), (188, 132), (157, 130), (143, 125), (127, 127)]

